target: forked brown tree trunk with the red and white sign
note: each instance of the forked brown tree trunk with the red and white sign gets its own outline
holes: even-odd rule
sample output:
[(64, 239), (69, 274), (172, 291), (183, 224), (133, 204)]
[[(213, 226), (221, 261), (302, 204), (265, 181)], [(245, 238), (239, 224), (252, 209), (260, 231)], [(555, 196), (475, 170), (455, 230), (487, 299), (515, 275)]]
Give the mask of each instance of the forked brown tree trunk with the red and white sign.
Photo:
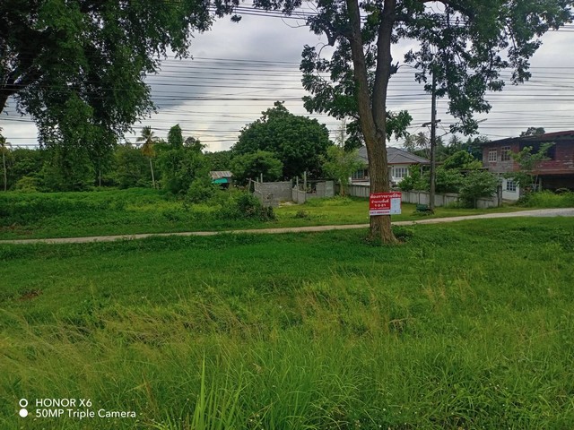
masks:
[[(391, 73), (391, 34), (393, 30), (396, 0), (385, 0), (381, 22), (378, 28), (377, 72), (372, 99), (370, 96), (367, 65), (361, 37), (361, 11), (358, 0), (346, 0), (351, 33), (352, 64), (357, 84), (357, 105), (361, 131), (367, 147), (369, 159), (370, 193), (388, 193), (387, 164), (387, 86)], [(396, 243), (391, 229), (390, 215), (370, 217), (371, 240), (381, 240), (385, 244)]]

